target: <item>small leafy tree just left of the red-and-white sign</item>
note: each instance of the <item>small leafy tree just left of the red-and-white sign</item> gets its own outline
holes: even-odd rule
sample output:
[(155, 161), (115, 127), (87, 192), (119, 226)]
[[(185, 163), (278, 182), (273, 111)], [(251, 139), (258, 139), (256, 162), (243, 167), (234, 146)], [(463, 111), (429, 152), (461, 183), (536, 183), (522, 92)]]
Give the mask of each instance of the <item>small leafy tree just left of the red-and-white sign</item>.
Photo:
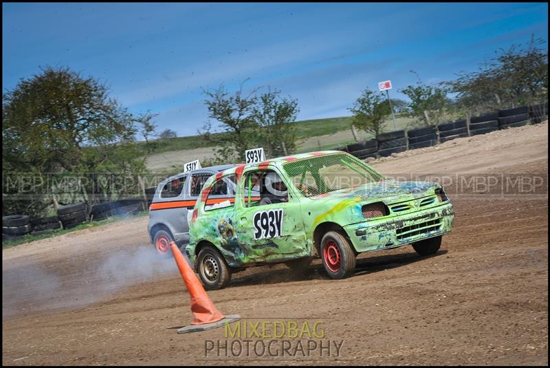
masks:
[(391, 113), (388, 101), (380, 92), (368, 87), (349, 109), (353, 113), (352, 125), (377, 137), (384, 130), (386, 117)]

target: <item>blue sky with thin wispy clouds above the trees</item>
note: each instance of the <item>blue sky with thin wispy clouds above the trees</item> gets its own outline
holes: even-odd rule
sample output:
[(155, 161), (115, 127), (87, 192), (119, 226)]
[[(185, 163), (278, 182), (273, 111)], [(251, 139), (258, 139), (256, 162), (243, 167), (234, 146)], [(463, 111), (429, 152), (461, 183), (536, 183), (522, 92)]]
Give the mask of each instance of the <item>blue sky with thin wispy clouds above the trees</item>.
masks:
[(547, 3), (3, 3), (3, 91), (39, 67), (99, 78), (158, 131), (194, 135), (202, 89), (271, 86), (298, 120), (349, 116), (362, 89), (474, 71), (499, 48), (547, 41)]

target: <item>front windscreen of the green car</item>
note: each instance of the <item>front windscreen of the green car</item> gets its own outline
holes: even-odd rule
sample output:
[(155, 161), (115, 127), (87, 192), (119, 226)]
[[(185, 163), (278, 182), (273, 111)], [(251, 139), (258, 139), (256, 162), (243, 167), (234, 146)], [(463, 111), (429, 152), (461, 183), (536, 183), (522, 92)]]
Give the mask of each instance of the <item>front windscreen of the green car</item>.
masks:
[(283, 168), (305, 197), (384, 180), (363, 162), (339, 153), (288, 162)]

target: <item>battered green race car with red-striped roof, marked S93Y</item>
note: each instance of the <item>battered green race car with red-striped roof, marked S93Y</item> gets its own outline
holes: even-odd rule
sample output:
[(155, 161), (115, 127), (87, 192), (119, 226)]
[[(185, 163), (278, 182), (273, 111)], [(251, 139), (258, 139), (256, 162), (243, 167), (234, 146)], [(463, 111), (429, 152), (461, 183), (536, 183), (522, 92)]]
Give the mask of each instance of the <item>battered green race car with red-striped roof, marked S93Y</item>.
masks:
[[(221, 187), (226, 197), (210, 195)], [(302, 270), (315, 255), (343, 279), (360, 252), (409, 243), (421, 255), (437, 252), (453, 220), (440, 184), (386, 180), (341, 151), (303, 153), (212, 175), (186, 252), (208, 290), (225, 288), (235, 270), (283, 262)]]

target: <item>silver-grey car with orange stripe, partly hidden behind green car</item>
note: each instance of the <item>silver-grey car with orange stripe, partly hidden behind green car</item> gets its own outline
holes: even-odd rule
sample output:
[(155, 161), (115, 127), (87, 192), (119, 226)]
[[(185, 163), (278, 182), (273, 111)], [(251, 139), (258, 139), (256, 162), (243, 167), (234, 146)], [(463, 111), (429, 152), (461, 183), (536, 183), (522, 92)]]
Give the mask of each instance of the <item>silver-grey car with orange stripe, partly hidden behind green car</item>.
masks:
[[(210, 166), (179, 173), (168, 177), (157, 186), (149, 206), (147, 226), (151, 243), (157, 252), (168, 255), (170, 241), (175, 241), (180, 248), (189, 242), (188, 213), (192, 213), (204, 183), (208, 177), (233, 166), (235, 165)], [(212, 198), (234, 198), (234, 182), (225, 181), (227, 185), (220, 186), (219, 193), (210, 193)]]

